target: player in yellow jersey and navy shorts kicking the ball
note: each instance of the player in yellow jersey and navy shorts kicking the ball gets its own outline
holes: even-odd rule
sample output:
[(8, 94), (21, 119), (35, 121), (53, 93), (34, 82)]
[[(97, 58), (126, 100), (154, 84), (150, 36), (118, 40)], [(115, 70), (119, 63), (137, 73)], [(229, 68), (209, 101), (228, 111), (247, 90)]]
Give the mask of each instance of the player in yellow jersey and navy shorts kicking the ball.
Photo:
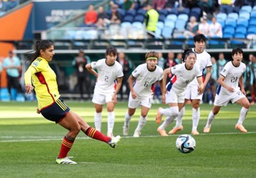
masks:
[(69, 130), (61, 142), (61, 150), (56, 158), (57, 164), (77, 164), (67, 157), (74, 140), (80, 130), (87, 136), (106, 142), (110, 147), (116, 147), (120, 136), (107, 137), (85, 122), (82, 117), (72, 112), (61, 100), (56, 82), (56, 74), (49, 66), (54, 56), (54, 45), (50, 41), (36, 42), (36, 50), (26, 61), (30, 62), (25, 73), (26, 93), (36, 92), (38, 100), (37, 113)]

